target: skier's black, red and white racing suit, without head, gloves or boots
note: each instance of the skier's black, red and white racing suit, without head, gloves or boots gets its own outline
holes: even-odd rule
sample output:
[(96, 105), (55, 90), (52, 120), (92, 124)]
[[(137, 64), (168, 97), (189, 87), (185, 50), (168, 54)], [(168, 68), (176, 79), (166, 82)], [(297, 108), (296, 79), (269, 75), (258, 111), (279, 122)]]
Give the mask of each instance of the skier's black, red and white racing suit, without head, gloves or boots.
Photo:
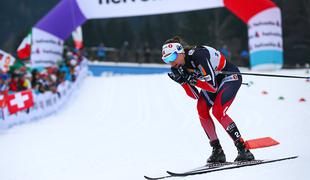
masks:
[[(188, 96), (198, 99), (199, 119), (210, 141), (218, 139), (211, 113), (230, 137), (234, 141), (238, 140), (240, 132), (226, 111), (241, 86), (242, 77), (237, 74), (223, 75), (219, 71), (240, 72), (239, 69), (209, 46), (196, 46), (185, 51), (184, 67), (197, 77), (195, 86), (184, 83), (182, 87)], [(201, 88), (201, 91), (196, 87)]]

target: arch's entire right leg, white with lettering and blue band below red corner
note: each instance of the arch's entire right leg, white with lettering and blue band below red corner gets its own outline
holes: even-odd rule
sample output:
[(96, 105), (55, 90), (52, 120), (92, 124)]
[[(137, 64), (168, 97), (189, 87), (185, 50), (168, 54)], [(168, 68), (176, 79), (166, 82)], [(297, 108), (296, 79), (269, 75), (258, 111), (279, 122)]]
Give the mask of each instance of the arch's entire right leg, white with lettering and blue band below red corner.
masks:
[(282, 67), (282, 23), (278, 7), (263, 10), (249, 19), (248, 36), (252, 69), (274, 70)]

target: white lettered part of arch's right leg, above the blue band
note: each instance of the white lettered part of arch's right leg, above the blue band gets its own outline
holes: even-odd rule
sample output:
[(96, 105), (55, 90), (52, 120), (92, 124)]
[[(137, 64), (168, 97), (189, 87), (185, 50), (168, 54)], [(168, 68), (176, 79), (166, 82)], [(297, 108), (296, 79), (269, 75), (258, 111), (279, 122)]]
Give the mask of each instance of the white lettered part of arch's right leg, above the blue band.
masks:
[(283, 51), (280, 9), (270, 8), (253, 16), (248, 22), (248, 36), (251, 53), (262, 50)]

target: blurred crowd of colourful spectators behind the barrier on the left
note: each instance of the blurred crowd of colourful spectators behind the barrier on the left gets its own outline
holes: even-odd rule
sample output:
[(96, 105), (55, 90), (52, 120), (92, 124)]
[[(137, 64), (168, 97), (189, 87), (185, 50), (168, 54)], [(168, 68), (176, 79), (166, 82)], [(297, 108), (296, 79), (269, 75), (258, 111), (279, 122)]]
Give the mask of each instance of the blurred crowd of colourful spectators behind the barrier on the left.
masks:
[[(27, 60), (16, 60), (8, 72), (0, 70), (1, 93), (16, 93), (32, 89), (36, 94), (57, 92), (57, 86), (64, 81), (75, 81), (82, 56), (78, 50), (66, 48), (64, 59), (57, 66), (31, 68)], [(58, 93), (59, 94), (59, 93)]]

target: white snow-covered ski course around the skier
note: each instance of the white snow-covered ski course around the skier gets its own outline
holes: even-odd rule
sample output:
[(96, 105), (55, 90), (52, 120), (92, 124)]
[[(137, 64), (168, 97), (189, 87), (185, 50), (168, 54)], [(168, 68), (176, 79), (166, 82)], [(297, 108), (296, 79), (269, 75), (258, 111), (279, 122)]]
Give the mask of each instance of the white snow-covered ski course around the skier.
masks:
[[(253, 150), (256, 158), (299, 158), (184, 179), (308, 179), (310, 83), (255, 76), (244, 82), (253, 85), (242, 86), (228, 114), (245, 139), (271, 136), (281, 143)], [(236, 149), (215, 122), (233, 160)], [(196, 102), (165, 74), (88, 77), (57, 114), (0, 134), (0, 180), (138, 180), (200, 166), (210, 153)]]

